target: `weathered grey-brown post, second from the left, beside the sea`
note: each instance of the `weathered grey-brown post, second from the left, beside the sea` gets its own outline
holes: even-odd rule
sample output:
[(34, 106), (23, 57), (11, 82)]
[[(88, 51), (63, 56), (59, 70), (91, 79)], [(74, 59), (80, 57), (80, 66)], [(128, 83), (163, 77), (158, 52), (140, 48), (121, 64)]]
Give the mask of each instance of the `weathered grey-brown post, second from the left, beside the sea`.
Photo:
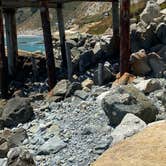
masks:
[(16, 30), (16, 18), (15, 9), (5, 9), (3, 10), (5, 17), (5, 27), (6, 27), (6, 41), (7, 41), (7, 51), (8, 51), (8, 72), (9, 75), (14, 78), (16, 74), (17, 67), (17, 30)]

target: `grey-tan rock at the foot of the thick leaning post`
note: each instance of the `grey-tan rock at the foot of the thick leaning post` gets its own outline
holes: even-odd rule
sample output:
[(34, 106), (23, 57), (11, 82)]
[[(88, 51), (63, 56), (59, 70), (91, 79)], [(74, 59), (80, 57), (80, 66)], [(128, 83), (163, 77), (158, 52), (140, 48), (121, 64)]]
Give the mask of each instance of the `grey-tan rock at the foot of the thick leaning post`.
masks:
[(52, 96), (65, 96), (67, 93), (69, 84), (70, 83), (68, 80), (59, 81), (51, 91)]

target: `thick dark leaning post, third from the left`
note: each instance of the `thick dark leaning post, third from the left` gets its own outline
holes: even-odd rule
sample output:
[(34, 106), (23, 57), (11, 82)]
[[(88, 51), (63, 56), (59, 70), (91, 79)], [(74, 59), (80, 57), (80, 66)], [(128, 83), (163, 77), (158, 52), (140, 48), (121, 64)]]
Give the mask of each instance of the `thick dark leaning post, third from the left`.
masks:
[(48, 84), (50, 90), (55, 86), (56, 83), (56, 73), (55, 73), (55, 61), (53, 53), (53, 43), (51, 36), (51, 25), (49, 18), (48, 2), (46, 0), (40, 1), (40, 15), (42, 21), (44, 44), (46, 51), (46, 67), (48, 73)]

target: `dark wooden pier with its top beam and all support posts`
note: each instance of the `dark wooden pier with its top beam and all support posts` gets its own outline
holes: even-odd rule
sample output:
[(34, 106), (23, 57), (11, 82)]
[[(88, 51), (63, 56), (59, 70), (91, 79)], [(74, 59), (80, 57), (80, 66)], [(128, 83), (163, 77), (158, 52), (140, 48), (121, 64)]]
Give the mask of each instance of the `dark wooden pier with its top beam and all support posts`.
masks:
[[(61, 54), (63, 60), (62, 68), (68, 69), (67, 67), (70, 65), (67, 64), (67, 59), (69, 57), (67, 57), (68, 55), (66, 52), (63, 4), (73, 1), (110, 2), (110, 5), (112, 3), (114, 54), (117, 55), (120, 52), (120, 74), (123, 75), (125, 72), (129, 72), (130, 0), (0, 0), (0, 92), (4, 98), (8, 96), (8, 75), (14, 78), (16, 74), (18, 49), (15, 14), (17, 8), (34, 7), (40, 9), (46, 51), (48, 83), (50, 89), (52, 89), (56, 83), (56, 75), (48, 9), (55, 8), (57, 10)], [(6, 58), (4, 47), (3, 16), (5, 18), (8, 58)], [(70, 71), (70, 69), (68, 69), (68, 71)]]

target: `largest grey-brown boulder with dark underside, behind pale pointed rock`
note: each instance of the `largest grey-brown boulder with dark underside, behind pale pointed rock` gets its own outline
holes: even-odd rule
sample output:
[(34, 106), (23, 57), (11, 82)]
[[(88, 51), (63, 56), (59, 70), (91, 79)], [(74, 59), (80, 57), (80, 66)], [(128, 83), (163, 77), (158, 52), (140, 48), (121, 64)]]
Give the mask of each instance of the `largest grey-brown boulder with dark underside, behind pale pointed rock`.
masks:
[(127, 113), (138, 116), (146, 123), (153, 122), (158, 113), (153, 103), (131, 85), (112, 88), (103, 99), (102, 108), (113, 126), (119, 125)]

